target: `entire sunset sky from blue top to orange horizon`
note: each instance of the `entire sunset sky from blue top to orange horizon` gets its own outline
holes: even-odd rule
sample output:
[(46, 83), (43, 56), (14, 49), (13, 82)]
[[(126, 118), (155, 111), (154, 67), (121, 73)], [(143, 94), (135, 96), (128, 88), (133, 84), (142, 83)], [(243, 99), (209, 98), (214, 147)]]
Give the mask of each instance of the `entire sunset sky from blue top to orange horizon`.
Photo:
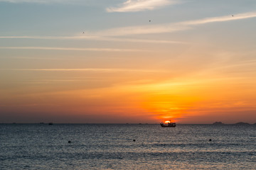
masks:
[(0, 0), (0, 123), (256, 123), (255, 0)]

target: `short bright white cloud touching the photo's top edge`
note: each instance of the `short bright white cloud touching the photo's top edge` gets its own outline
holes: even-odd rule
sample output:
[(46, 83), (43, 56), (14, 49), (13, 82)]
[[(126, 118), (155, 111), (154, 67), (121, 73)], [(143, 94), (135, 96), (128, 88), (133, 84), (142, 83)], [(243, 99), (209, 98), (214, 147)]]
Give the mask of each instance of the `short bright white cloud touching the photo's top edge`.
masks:
[(176, 4), (176, 1), (170, 0), (127, 0), (119, 7), (107, 8), (107, 12), (136, 12), (146, 11), (166, 6), (170, 4)]

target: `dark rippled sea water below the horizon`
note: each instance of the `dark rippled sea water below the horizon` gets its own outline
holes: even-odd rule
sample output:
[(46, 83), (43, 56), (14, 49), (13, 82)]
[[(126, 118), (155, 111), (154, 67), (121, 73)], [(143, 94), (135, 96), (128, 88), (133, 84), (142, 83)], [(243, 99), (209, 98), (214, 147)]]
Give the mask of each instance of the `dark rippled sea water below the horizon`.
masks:
[(0, 151), (0, 169), (256, 169), (256, 125), (0, 124)]

